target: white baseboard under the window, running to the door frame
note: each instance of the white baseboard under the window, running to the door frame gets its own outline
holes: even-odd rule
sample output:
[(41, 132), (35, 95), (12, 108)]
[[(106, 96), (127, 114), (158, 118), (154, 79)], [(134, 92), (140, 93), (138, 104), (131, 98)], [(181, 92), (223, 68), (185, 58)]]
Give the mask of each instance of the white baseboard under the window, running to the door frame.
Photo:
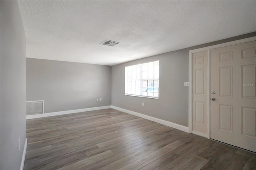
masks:
[(158, 119), (158, 118), (155, 118), (155, 117), (151, 117), (151, 116), (148, 116), (148, 115), (144, 115), (144, 114), (141, 114), (141, 113), (130, 111), (130, 110), (127, 110), (127, 109), (122, 109), (122, 108), (116, 107), (116, 106), (111, 106), (111, 108), (116, 109), (118, 111), (128, 113), (130, 115), (134, 115), (134, 116), (138, 116), (138, 117), (141, 117), (141, 118), (144, 118), (144, 119), (148, 119), (150, 121), (160, 123), (160, 124), (166, 125), (168, 127), (176, 128), (176, 129), (182, 130), (184, 132), (188, 132), (188, 127), (185, 127), (183, 125), (179, 125), (179, 124), (176, 124), (176, 123), (172, 123), (172, 122), (169, 122), (169, 121), (165, 121), (165, 120), (162, 120), (162, 119)]

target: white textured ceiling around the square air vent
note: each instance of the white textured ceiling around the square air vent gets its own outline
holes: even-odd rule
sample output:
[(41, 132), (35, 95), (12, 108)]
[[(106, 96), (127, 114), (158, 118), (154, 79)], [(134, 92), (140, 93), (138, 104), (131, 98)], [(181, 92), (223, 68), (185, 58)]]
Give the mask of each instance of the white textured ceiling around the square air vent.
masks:
[[(115, 65), (256, 31), (256, 1), (19, 1), (26, 57)], [(120, 44), (101, 45), (104, 40)]]

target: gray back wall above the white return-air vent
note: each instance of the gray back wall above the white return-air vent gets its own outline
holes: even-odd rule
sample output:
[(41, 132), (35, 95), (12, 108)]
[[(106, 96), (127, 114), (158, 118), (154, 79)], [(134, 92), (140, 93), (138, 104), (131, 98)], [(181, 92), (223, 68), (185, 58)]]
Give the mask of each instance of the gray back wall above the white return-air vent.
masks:
[(27, 101), (45, 113), (111, 105), (111, 66), (26, 58), (26, 76)]

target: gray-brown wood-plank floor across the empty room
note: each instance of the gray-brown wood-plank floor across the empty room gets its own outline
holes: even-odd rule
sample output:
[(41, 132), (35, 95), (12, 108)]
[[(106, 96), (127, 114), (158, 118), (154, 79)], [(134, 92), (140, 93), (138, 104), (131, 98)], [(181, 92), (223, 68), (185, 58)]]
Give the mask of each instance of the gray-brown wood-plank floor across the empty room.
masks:
[(27, 120), (24, 169), (256, 170), (256, 155), (114, 109)]

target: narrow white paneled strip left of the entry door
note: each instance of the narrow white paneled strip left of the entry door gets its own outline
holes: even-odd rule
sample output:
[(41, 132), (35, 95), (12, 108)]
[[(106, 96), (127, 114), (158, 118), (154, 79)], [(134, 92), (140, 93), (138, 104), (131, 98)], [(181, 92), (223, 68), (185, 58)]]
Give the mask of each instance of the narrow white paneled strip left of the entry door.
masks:
[(192, 133), (207, 137), (207, 58), (208, 51), (192, 53)]

